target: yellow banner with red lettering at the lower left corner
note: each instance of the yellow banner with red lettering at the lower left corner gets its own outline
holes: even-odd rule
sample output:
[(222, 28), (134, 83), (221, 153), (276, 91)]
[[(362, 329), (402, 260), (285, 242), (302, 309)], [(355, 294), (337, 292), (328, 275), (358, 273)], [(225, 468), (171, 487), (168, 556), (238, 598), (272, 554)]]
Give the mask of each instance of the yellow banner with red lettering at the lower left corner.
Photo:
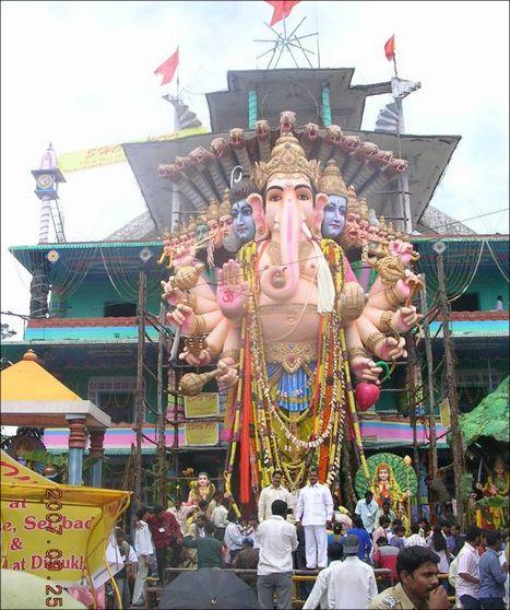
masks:
[[(9, 468), (4, 456), (2, 474)], [(130, 492), (59, 485), (43, 477), (43, 483), (8, 482), (14, 477), (2, 476), (0, 485), (1, 566), (36, 574), (56, 588), (86, 585), (103, 574), (106, 546)]]

